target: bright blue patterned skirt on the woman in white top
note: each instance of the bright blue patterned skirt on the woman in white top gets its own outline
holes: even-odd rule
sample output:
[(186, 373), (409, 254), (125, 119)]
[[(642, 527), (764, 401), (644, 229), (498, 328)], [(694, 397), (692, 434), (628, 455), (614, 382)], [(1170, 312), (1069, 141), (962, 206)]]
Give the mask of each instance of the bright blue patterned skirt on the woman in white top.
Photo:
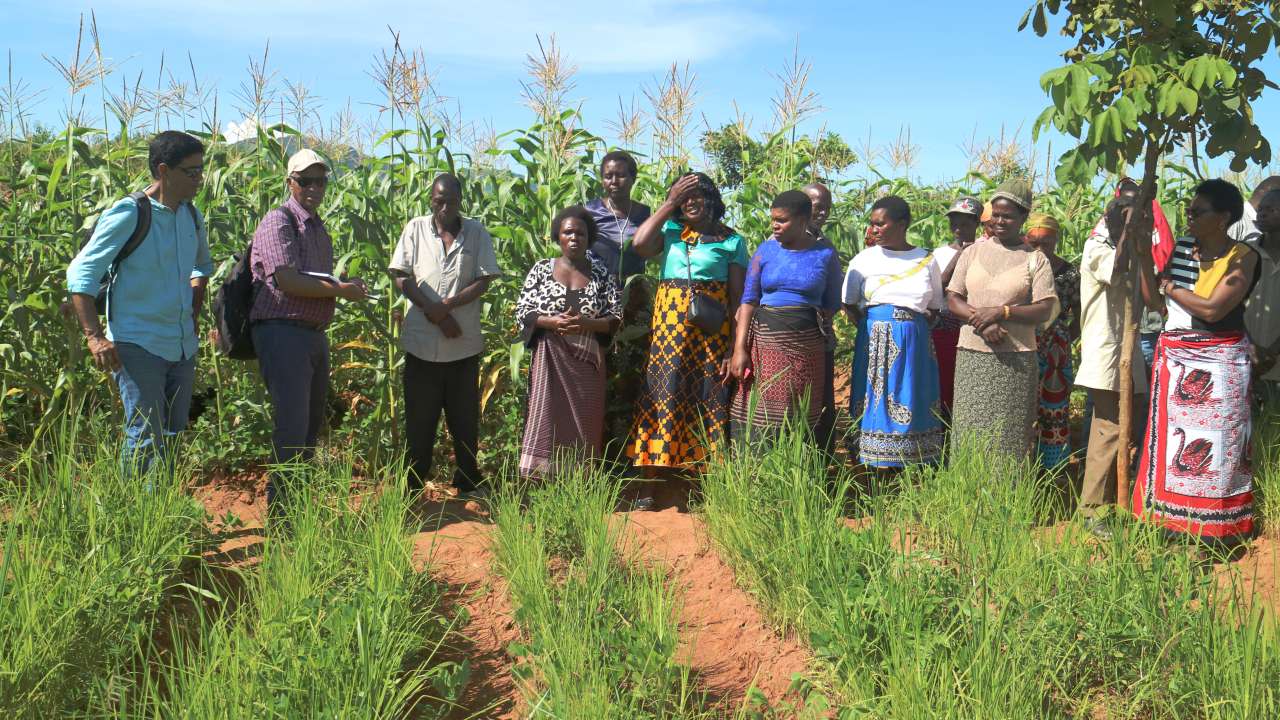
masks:
[(938, 361), (924, 316), (893, 305), (873, 305), (859, 323), (850, 413), (861, 415), (858, 457), (872, 468), (937, 462), (943, 428)]

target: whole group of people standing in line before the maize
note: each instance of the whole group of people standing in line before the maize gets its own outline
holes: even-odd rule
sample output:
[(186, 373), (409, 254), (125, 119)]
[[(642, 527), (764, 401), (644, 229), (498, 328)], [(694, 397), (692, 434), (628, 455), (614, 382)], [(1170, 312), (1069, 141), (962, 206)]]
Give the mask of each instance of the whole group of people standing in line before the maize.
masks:
[[(125, 199), (104, 213), (67, 273), (95, 361), (119, 384), (125, 459), (134, 464), (150, 461), (186, 421), (196, 319), (212, 268), (189, 202), (202, 146), (160, 133), (150, 164), (146, 250), (114, 261), (142, 201)], [(335, 299), (369, 293), (360, 279), (333, 277), (321, 218), (330, 172), (319, 154), (294, 154), (288, 199), (262, 218), (250, 250), (259, 287), (252, 338), (280, 464), (315, 447)], [(1138, 187), (1124, 181), (1079, 266), (1057, 255), (1060, 223), (1032, 211), (1024, 182), (1001, 184), (986, 202), (957, 199), (947, 211), (952, 242), (932, 250), (911, 245), (911, 208), (887, 196), (872, 205), (867, 246), (846, 266), (823, 234), (832, 197), (822, 184), (780, 193), (771, 236), (753, 252), (724, 223), (708, 176), (677, 178), (650, 209), (631, 197), (636, 174), (631, 155), (607, 154), (603, 197), (556, 215), (559, 254), (525, 277), (513, 318), (531, 351), (521, 474), (550, 478), (564, 459), (602, 457), (609, 443), (640, 480), (695, 474), (713, 454), (767, 443), (788, 423), (808, 427), (829, 452), (833, 318), (844, 309), (856, 328), (850, 452), (864, 466), (940, 462), (950, 436), (1056, 468), (1073, 452), (1070, 395), (1083, 387), (1080, 507), (1094, 532), (1107, 532), (1101, 509), (1117, 500), (1124, 402), (1133, 402), (1139, 439), (1133, 511), (1210, 538), (1252, 532), (1251, 401), (1275, 397), (1280, 380), (1280, 178), (1265, 181), (1251, 202), (1228, 182), (1202, 183), (1183, 238), (1158, 202), (1149, 236), (1125, 233)], [(456, 177), (435, 178), (430, 214), (408, 222), (388, 270), (411, 306), (401, 332), (410, 484), (431, 475), (443, 414), (453, 482), (468, 493), (481, 484), (477, 301), (502, 269), (485, 228), (462, 217), (462, 200)], [(657, 287), (645, 274), (653, 259)], [(92, 304), (104, 274), (111, 278), (105, 331)], [(1126, 304), (1144, 306), (1143, 329), (1158, 333), (1144, 332), (1134, 346), (1133, 397), (1120, 396), (1119, 382)], [(643, 382), (623, 398), (626, 432), (607, 438), (611, 373), (625, 370), (611, 343), (634, 307), (652, 307), (640, 333)], [(284, 489), (269, 487), (273, 511)], [(652, 505), (652, 492), (641, 489), (635, 503)]]

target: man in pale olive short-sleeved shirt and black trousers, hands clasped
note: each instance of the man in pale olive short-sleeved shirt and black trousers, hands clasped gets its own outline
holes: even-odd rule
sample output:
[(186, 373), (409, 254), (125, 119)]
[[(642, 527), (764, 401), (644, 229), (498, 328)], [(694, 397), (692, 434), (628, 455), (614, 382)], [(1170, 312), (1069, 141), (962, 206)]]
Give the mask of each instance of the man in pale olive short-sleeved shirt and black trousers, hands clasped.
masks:
[(493, 238), (460, 214), (462, 184), (451, 174), (431, 183), (431, 214), (404, 225), (389, 270), (413, 305), (404, 315), (404, 434), (408, 484), (431, 475), (435, 433), (444, 413), (458, 466), (453, 486), (474, 493), (480, 483), (480, 296), (502, 274)]

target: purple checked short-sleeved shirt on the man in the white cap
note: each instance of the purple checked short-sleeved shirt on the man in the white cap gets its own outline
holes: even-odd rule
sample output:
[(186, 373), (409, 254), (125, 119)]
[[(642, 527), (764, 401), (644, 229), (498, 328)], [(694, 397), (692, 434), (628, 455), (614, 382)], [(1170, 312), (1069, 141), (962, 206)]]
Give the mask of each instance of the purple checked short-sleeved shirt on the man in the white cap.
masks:
[(257, 224), (250, 264), (257, 281), (250, 320), (300, 320), (324, 327), (333, 319), (337, 305), (333, 297), (297, 297), (275, 284), (275, 272), (280, 268), (293, 268), (300, 273), (333, 273), (329, 231), (317, 215), (292, 196), (284, 208), (271, 210)]

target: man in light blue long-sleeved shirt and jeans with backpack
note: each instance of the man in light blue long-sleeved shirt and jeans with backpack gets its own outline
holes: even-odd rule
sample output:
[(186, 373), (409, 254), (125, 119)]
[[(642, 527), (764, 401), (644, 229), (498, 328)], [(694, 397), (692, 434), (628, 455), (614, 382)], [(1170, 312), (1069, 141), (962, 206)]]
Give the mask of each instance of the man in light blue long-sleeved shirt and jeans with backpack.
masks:
[(93, 236), (67, 268), (67, 288), (93, 364), (110, 372), (124, 404), (125, 473), (146, 470), (165, 438), (187, 427), (196, 373), (196, 318), (214, 272), (209, 238), (191, 199), (205, 172), (205, 147), (175, 131), (157, 135), (148, 150), (154, 182), (141, 200), (151, 224), (120, 261), (106, 301), (106, 331), (93, 299), (138, 224), (138, 205), (125, 197), (109, 208)]

